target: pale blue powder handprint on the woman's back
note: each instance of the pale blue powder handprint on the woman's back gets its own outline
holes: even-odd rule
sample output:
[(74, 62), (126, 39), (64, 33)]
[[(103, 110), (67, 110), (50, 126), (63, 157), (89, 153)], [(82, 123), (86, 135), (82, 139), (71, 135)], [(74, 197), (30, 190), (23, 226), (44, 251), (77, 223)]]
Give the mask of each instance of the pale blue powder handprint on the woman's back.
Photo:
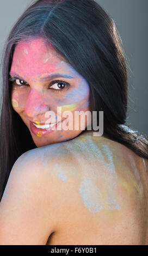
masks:
[[(116, 191), (118, 180), (113, 163), (112, 151), (109, 149), (108, 145), (103, 145), (102, 150), (100, 150), (89, 138), (87, 146), (90, 156), (92, 157), (92, 154), (96, 155), (101, 164), (99, 165), (102, 167), (98, 169), (95, 167), (95, 164), (90, 161), (91, 173), (92, 177), (94, 177), (94, 181), (93, 179), (84, 176), (83, 181), (79, 186), (79, 193), (81, 194), (84, 205), (93, 213), (99, 212), (102, 209), (120, 209), (120, 205), (116, 202), (116, 198), (119, 198)], [(92, 157), (92, 159), (93, 158), (94, 157)], [(102, 190), (95, 184), (95, 180), (100, 180), (102, 182), (103, 193), (101, 193)]]

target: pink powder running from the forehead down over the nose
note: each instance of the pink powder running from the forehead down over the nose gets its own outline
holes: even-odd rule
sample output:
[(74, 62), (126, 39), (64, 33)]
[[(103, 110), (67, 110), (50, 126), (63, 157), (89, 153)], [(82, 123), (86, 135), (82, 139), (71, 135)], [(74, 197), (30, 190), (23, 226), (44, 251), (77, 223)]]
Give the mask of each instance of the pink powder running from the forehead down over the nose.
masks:
[[(21, 76), (27, 83), (32, 83), (33, 88), (30, 90), (29, 87), (23, 89), (17, 87), (18, 97), (16, 99), (13, 93), (12, 98), (13, 102), (17, 100), (18, 106), (25, 109), (27, 115), (33, 116), (49, 110), (51, 100), (47, 99), (45, 103), (40, 87), (40, 77), (43, 74), (55, 72), (60, 61), (52, 45), (42, 38), (21, 41), (16, 45), (10, 74)], [(14, 106), (17, 105), (14, 104)]]

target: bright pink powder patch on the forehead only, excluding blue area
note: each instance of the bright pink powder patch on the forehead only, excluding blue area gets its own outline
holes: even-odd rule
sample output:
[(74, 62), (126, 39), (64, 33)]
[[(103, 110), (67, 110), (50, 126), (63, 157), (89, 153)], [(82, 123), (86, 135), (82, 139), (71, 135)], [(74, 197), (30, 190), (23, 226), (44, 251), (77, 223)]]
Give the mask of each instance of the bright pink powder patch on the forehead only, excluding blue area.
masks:
[(40, 74), (46, 72), (54, 72), (56, 64), (52, 63), (49, 65), (47, 61), (47, 59), (51, 60), (52, 58), (50, 52), (47, 52), (48, 47), (52, 48), (50, 44), (47, 45), (45, 40), (41, 38), (17, 44), (11, 65), (11, 72), (21, 74), (27, 79), (38, 77)]

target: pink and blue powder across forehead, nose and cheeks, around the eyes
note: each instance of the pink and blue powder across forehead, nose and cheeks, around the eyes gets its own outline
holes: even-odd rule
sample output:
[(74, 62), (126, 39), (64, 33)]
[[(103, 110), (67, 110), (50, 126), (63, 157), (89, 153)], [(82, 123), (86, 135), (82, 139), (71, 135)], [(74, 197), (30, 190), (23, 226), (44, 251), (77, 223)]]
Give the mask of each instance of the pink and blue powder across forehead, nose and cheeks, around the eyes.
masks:
[[(70, 89), (64, 90), (65, 93), (61, 94), (48, 90), (50, 80), (44, 83), (42, 78), (51, 73), (72, 76), (74, 79), (70, 81)], [(10, 74), (22, 77), (22, 80), (28, 84), (28, 86), (14, 87), (17, 95), (13, 93), (12, 100), (15, 111), (22, 114), (20, 109), (24, 109), (23, 114), (25, 116), (27, 114), (29, 118), (40, 120), (40, 115), (43, 113), (49, 110), (57, 113), (57, 107), (65, 105), (77, 104), (78, 110), (81, 110), (81, 106), (85, 108), (85, 103), (88, 102), (87, 81), (82, 79), (45, 39), (34, 38), (19, 42), (15, 47)]]

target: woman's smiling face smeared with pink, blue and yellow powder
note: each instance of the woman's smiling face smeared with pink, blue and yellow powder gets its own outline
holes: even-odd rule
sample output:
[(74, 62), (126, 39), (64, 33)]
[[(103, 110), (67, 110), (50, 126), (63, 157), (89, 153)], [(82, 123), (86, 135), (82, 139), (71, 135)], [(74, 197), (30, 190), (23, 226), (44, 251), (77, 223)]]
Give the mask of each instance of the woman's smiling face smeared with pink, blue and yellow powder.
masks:
[[(89, 84), (46, 40), (34, 38), (16, 45), (10, 80), (13, 108), (37, 147), (68, 141), (87, 127), (87, 118), (75, 119), (75, 111), (90, 110)], [(72, 127), (68, 120), (73, 120)]]

